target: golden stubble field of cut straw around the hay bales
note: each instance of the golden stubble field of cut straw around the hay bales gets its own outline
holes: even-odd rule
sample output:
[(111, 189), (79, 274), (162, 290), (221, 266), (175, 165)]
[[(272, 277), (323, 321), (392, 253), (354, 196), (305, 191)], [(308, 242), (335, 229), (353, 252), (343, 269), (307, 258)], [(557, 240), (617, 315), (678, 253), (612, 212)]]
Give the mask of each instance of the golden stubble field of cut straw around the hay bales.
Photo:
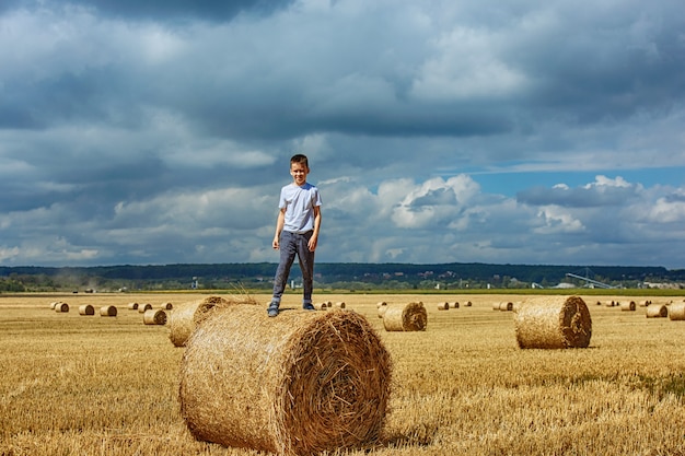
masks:
[[(143, 325), (142, 314), (127, 309), (208, 295), (0, 295), (0, 455), (259, 454), (191, 437), (177, 397), (184, 349), (171, 343), (169, 325)], [(340, 453), (685, 455), (685, 321), (596, 305), (626, 296), (581, 296), (592, 339), (570, 350), (518, 348), (513, 314), (492, 303), (525, 295), (316, 296), (365, 316), (393, 361), (382, 442)], [(287, 294), (282, 307), (298, 307), (299, 299)], [(635, 299), (645, 300), (683, 296)], [(69, 313), (51, 311), (54, 301)], [(386, 332), (379, 301), (422, 301), (427, 330)], [(454, 301), (460, 308), (438, 311)], [(82, 304), (95, 315), (80, 316)], [(104, 305), (117, 316), (100, 316)]]

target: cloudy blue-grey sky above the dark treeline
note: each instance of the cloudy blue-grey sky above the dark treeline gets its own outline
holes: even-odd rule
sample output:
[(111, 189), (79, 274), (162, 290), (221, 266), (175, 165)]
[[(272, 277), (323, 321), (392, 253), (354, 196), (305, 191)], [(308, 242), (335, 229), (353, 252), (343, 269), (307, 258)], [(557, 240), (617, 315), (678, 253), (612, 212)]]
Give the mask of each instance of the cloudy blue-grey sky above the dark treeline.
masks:
[(685, 268), (682, 0), (2, 0), (0, 265)]

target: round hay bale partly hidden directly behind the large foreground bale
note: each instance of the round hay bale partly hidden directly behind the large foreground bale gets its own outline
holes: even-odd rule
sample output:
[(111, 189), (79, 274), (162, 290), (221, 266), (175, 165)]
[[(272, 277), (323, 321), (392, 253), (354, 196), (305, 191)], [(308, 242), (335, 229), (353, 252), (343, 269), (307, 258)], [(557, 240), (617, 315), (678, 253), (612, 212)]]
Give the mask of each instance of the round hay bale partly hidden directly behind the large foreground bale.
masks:
[[(241, 296), (240, 300), (231, 297), (227, 300), (221, 296), (207, 296), (202, 300), (178, 304), (174, 307), (170, 317), (171, 332), (169, 338), (174, 347), (183, 347), (195, 330), (198, 323), (207, 317), (207, 314), (216, 306), (223, 307), (234, 304), (257, 304), (253, 297)], [(266, 311), (263, 309), (266, 315)]]

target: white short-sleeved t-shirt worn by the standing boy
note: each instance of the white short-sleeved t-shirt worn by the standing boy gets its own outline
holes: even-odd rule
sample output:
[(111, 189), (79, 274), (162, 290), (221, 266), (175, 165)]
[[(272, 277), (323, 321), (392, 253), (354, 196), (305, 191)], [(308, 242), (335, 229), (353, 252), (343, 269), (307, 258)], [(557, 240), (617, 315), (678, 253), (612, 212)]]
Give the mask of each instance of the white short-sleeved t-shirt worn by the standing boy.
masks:
[(314, 230), (314, 208), (317, 206), (321, 206), (321, 195), (310, 183), (302, 187), (289, 184), (281, 188), (278, 208), (286, 208), (283, 230), (300, 234)]

